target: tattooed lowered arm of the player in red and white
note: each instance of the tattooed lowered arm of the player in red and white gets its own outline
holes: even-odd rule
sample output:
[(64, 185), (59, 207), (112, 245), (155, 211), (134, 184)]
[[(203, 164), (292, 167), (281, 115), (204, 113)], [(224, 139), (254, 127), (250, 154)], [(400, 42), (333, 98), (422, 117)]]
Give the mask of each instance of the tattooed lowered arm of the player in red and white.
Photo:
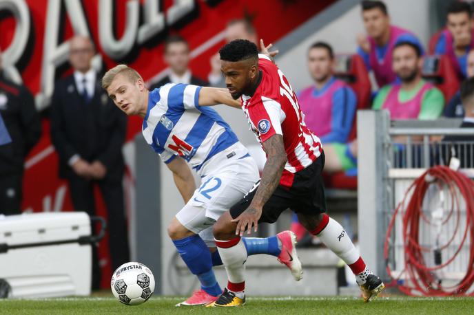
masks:
[(262, 208), (265, 202), (274, 193), (280, 177), (287, 163), (287, 153), (285, 144), (283, 144), (282, 135), (272, 135), (267, 141), (263, 142), (263, 150), (267, 153), (267, 162), (263, 166), (262, 177), (258, 185), (252, 202), (241, 215), (232, 220), (237, 222), (236, 235), (243, 236), (245, 230), (250, 234), (252, 226), (257, 231), (258, 219), (262, 215)]

